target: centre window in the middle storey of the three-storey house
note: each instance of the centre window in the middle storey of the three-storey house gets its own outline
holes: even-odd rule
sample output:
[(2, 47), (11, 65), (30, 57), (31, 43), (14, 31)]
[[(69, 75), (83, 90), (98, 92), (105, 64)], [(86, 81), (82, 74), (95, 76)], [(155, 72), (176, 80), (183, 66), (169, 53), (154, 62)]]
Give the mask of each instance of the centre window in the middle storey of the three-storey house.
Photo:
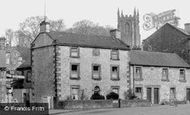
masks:
[(92, 79), (94, 79), (94, 80), (101, 79), (101, 66), (98, 64), (92, 65)]

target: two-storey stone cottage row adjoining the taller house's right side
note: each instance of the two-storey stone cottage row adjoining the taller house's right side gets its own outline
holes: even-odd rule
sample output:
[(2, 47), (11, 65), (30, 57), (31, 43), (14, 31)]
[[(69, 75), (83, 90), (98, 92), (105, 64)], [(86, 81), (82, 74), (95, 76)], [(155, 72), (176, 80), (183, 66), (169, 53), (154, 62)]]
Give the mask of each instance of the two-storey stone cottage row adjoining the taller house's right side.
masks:
[(174, 53), (130, 51), (134, 93), (154, 104), (190, 100), (190, 66)]

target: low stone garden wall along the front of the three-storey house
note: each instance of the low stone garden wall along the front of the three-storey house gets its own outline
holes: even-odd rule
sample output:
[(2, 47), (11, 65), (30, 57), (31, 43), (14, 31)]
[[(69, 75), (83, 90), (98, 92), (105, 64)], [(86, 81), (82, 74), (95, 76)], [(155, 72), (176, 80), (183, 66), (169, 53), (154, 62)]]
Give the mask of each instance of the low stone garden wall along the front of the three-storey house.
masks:
[(76, 100), (61, 101), (56, 109), (104, 109), (120, 107), (148, 107), (151, 103), (146, 100)]

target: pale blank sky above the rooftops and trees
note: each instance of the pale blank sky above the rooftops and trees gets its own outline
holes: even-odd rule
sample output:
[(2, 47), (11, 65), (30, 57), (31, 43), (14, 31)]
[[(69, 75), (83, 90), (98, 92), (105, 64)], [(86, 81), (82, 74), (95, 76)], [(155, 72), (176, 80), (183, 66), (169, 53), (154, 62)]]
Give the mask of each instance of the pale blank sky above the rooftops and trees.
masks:
[[(6, 29), (17, 30), (19, 23), (27, 17), (43, 16), (45, 0), (0, 0), (0, 36)], [(141, 39), (147, 38), (155, 29), (145, 31), (143, 15), (159, 14), (163, 11), (176, 9), (180, 17), (179, 27), (190, 23), (190, 7), (188, 0), (46, 0), (46, 15), (51, 20), (63, 19), (66, 28), (74, 22), (87, 19), (101, 26), (110, 25), (117, 28), (117, 10), (123, 10), (125, 15), (133, 14), (134, 8), (140, 13)]]

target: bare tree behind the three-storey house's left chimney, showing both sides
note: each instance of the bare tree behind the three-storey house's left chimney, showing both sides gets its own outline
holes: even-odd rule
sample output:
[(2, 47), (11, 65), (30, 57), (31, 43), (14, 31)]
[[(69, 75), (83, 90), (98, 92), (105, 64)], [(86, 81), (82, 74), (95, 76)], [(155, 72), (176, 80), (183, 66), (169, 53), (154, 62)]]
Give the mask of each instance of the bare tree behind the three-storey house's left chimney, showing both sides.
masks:
[[(24, 22), (19, 24), (19, 29), (15, 32), (18, 38), (18, 45), (23, 47), (29, 47), (30, 43), (39, 33), (40, 22), (44, 20), (44, 17), (35, 16), (28, 17)], [(62, 19), (49, 20), (51, 31), (63, 31), (65, 24)]]

